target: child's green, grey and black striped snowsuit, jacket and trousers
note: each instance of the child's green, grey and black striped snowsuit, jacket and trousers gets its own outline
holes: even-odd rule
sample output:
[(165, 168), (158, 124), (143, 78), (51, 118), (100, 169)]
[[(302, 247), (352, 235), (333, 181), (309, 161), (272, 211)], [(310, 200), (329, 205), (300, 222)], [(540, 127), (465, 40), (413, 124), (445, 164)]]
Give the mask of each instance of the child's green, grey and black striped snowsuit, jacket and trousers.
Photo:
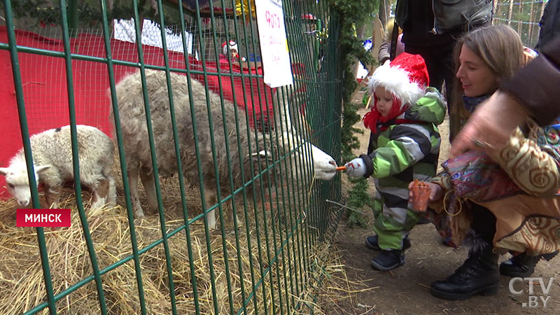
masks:
[[(428, 87), (424, 97), (395, 120), (378, 124), (370, 135), (367, 155), (361, 155), (365, 177), (372, 176), (374, 197), (374, 231), (382, 249), (402, 248), (402, 239), (418, 222), (421, 213), (410, 211), (408, 184), (435, 176), (440, 155), (440, 125), (445, 105), (439, 92)], [(402, 121), (405, 123), (402, 123)]]

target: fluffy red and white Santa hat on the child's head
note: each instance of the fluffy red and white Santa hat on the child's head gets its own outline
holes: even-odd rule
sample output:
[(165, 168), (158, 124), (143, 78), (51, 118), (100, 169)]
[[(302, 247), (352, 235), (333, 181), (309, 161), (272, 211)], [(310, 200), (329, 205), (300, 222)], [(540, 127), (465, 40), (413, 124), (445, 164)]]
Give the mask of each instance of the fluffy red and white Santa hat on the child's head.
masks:
[(385, 87), (400, 100), (400, 106), (416, 103), (426, 93), (430, 84), (426, 62), (420, 55), (402, 52), (390, 63), (375, 69), (368, 83), (370, 93), (377, 87)]

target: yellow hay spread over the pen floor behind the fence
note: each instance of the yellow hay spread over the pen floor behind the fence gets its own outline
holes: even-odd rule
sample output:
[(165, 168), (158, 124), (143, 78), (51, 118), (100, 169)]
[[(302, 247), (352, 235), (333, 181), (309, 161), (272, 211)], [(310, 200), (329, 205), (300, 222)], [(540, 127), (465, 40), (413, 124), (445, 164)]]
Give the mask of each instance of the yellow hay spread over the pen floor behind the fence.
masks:
[[(165, 187), (164, 191), (166, 191)], [(189, 200), (193, 200), (193, 203), (200, 202), (200, 199), (196, 199), (196, 195), (197, 192), (191, 192), (188, 195)], [(84, 193), (84, 200), (87, 200), (87, 197), (87, 193)], [(66, 201), (59, 205), (61, 208), (72, 209), (70, 228), (45, 228), (55, 294), (92, 274), (90, 255), (87, 253), (75, 204), (76, 201), (70, 193)], [(118, 204), (125, 204), (123, 197), (119, 198)], [(240, 206), (237, 209), (242, 212), (242, 204)], [(171, 232), (181, 226), (182, 212), (180, 207), (176, 207), (176, 200), (166, 200), (165, 207), (167, 232)], [(21, 314), (46, 300), (36, 230), (34, 228), (16, 228), (16, 208), (17, 205), (13, 199), (0, 201), (0, 292), (2, 292), (0, 314)], [(86, 202), (85, 209), (99, 269), (104, 269), (132, 254), (130, 228), (126, 210), (123, 207), (90, 211)], [(209, 235), (214, 281), (211, 280), (204, 225), (197, 221), (190, 226), (197, 302), (202, 314), (214, 314), (216, 309), (220, 313), (229, 314), (230, 302), (234, 311), (237, 312), (244, 306), (243, 297), (248, 299), (251, 294), (254, 296), (245, 305), (248, 314), (252, 314), (253, 311), (264, 313), (265, 307), (271, 314), (273, 307), (276, 314), (281, 313), (281, 308), (284, 313), (287, 309), (293, 312), (293, 305), (291, 305), (293, 301), (301, 302), (308, 296), (308, 292), (304, 291), (304, 288), (309, 288), (306, 281), (313, 279), (314, 276), (309, 274), (310, 269), (306, 262), (309, 262), (309, 258), (312, 259), (317, 248), (311, 248), (305, 235), (300, 234), (297, 234), (297, 237), (290, 237), (286, 242), (286, 230), (282, 228), (283, 223), (279, 223), (281, 220), (277, 220), (276, 216), (270, 214), (267, 214), (268, 231), (265, 232), (262, 211), (258, 211), (256, 219), (253, 209), (248, 209), (248, 211), (249, 224), (241, 225), (237, 232), (239, 248), (236, 244), (232, 223), (225, 228), (225, 253), (228, 256), (229, 276), (225, 267), (221, 232), (218, 230)], [(191, 218), (197, 214), (197, 210), (194, 212), (195, 214), (189, 214)], [(198, 214), (200, 214), (200, 210)], [(146, 216), (145, 221), (135, 222), (139, 249), (146, 248), (153, 241), (161, 238), (158, 214), (146, 212)], [(245, 222), (244, 219), (245, 217), (241, 216), (243, 222)], [(274, 222), (275, 220), (276, 222)], [(255, 222), (259, 223), (258, 233)], [(276, 226), (276, 230), (271, 228), (272, 224)], [(258, 238), (258, 236), (260, 237)], [(267, 246), (267, 238), (269, 246)], [(274, 242), (276, 248), (274, 248)], [(284, 243), (283, 251), (280, 252), (283, 242), (286, 243)], [(274, 260), (276, 251), (279, 254)], [(184, 230), (169, 239), (169, 252), (172, 257), (177, 312), (178, 314), (195, 314), (191, 261)], [(139, 260), (148, 314), (170, 314), (172, 306), (164, 247), (162, 244), (155, 246), (140, 255)], [(241, 265), (242, 272), (239, 270), (239, 265)], [(267, 268), (270, 269), (267, 270)], [(229, 289), (228, 278), (231, 286)], [(109, 314), (141, 313), (133, 260), (103, 274), (102, 282)], [(212, 294), (212, 283), (216, 288), (216, 301)], [(241, 290), (241, 285), (243, 290)], [(253, 289), (254, 285), (258, 287)], [(231, 291), (231, 301), (228, 291)], [(274, 295), (274, 299), (272, 295)], [(256, 300), (256, 303), (253, 299)], [(312, 301), (310, 303), (312, 304)], [(57, 301), (57, 311), (58, 314), (99, 314), (99, 302), (94, 281), (90, 281)], [(304, 311), (304, 309), (300, 311)], [(317, 308), (314, 311), (321, 314)], [(43, 309), (39, 313), (47, 314), (48, 311)]]

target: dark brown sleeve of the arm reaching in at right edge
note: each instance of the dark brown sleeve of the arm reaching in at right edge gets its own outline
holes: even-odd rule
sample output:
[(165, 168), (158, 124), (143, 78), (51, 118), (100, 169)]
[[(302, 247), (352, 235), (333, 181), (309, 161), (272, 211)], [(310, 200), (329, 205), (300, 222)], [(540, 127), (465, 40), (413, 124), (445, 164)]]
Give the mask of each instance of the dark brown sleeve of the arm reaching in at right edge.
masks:
[(560, 35), (542, 47), (532, 62), (500, 85), (541, 126), (560, 116)]

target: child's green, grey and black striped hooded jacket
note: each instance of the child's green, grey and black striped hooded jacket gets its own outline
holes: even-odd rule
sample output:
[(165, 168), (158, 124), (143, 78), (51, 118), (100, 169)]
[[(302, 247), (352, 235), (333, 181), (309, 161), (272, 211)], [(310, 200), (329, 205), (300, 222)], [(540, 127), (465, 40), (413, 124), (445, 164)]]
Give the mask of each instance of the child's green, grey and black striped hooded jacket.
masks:
[(388, 122), (371, 133), (367, 155), (360, 158), (366, 167), (364, 176), (374, 178), (377, 201), (406, 209), (408, 184), (435, 176), (441, 144), (437, 125), (444, 116), (440, 93), (428, 87), (426, 95), (397, 118), (413, 123)]

